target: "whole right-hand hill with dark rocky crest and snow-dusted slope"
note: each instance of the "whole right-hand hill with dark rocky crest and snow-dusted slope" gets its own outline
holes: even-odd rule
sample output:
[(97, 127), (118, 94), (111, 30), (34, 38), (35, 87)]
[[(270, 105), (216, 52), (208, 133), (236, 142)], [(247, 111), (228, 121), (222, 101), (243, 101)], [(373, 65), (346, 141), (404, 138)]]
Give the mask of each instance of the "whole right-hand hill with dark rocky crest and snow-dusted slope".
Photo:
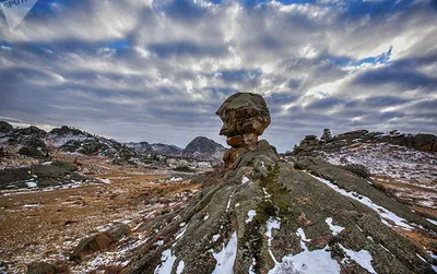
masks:
[[(387, 194), (423, 212), (437, 210), (436, 136), (430, 134), (389, 134), (367, 130), (338, 134), (321, 141), (306, 136), (294, 155), (317, 156), (331, 164), (350, 167), (364, 166), (373, 183)], [(426, 207), (428, 210), (423, 210)]]

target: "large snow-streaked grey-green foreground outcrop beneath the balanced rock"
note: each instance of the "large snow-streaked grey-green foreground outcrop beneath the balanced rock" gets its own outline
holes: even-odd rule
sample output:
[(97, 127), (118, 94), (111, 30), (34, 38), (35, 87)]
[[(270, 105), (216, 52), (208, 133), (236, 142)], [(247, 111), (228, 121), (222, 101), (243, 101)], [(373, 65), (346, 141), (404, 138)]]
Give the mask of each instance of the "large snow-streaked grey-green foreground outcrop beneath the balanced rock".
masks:
[(341, 167), (245, 145), (232, 168), (192, 179), (188, 206), (138, 226), (147, 240), (123, 273), (433, 273), (401, 235), (434, 239), (432, 223)]

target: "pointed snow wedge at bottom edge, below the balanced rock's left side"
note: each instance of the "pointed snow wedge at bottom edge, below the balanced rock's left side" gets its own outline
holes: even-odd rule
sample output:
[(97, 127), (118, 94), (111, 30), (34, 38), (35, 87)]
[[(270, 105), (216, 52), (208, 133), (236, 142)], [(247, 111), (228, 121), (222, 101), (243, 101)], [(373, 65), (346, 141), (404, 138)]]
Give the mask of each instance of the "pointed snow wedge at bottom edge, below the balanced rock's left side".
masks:
[(234, 231), (227, 245), (223, 243), (222, 251), (213, 253), (213, 257), (217, 263), (212, 274), (233, 274), (237, 258), (237, 233)]

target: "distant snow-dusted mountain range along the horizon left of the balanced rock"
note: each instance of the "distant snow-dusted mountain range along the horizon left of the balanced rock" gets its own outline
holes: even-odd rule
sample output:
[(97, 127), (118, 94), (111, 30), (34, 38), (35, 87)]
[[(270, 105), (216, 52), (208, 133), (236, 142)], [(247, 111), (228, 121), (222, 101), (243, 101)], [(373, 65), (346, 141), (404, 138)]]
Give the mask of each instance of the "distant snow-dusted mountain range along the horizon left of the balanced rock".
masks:
[[(98, 136), (86, 131), (62, 126), (50, 132), (35, 126), (14, 129), (0, 121), (0, 147), (33, 158), (46, 158), (50, 153), (80, 153), (129, 159), (141, 154), (182, 156), (205, 160), (222, 159), (226, 148), (205, 136), (194, 138), (185, 148), (172, 144), (129, 142), (121, 144), (113, 139)], [(7, 150), (7, 147), (9, 147)]]

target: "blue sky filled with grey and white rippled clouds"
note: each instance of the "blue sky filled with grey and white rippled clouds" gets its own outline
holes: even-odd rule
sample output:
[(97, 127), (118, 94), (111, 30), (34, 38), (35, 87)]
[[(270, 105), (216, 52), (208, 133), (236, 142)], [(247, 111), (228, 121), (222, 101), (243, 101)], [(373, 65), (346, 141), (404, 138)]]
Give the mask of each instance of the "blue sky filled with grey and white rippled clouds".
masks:
[(261, 94), (262, 135), (437, 133), (435, 0), (39, 0), (0, 12), (0, 120), (121, 142), (222, 144), (216, 109)]

